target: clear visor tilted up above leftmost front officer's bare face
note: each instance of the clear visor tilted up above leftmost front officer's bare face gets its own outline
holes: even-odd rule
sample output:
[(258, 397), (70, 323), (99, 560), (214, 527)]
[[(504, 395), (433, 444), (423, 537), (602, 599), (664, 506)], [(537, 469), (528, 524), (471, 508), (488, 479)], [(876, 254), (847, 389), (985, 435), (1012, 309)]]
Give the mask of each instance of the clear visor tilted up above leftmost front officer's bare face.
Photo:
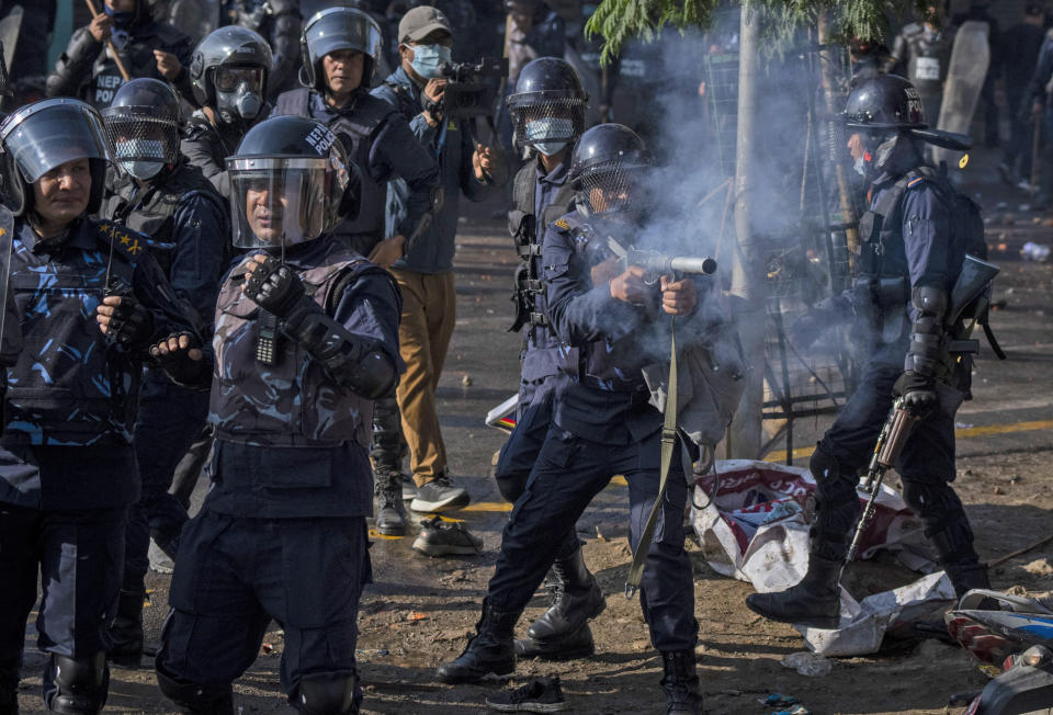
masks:
[(0, 138), (27, 183), (67, 161), (112, 160), (99, 113), (78, 100), (24, 106), (0, 125)]

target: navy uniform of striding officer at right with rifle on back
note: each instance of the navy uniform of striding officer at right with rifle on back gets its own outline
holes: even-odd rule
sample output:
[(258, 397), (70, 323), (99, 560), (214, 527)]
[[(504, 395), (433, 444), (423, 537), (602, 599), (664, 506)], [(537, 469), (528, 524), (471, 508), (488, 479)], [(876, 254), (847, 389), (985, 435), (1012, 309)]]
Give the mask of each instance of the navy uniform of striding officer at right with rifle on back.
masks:
[[(872, 208), (881, 205), (897, 179), (885, 174), (874, 182)], [(857, 475), (870, 461), (892, 407), (893, 384), (905, 368), (916, 318), (909, 304), (910, 288), (932, 286), (949, 294), (961, 270), (964, 247), (952, 236), (948, 191), (933, 179), (912, 179), (899, 213), (886, 219), (891, 227), (862, 248), (863, 276), (902, 279), (904, 290), (897, 299), (872, 306), (876, 344), (871, 347), (859, 386), (818, 444), (817, 458), (833, 459), (838, 466), (835, 478), (818, 479), (826, 509), (818, 514), (817, 546), (829, 559), (843, 558), (860, 508)], [(939, 406), (915, 424), (895, 465), (903, 479), (904, 500), (921, 519), (926, 536), (932, 540), (940, 564), (960, 593), (986, 586), (969, 519), (950, 486), (955, 476), (954, 412), (969, 394), (971, 364), (969, 355), (962, 355), (953, 373), (937, 382)]]

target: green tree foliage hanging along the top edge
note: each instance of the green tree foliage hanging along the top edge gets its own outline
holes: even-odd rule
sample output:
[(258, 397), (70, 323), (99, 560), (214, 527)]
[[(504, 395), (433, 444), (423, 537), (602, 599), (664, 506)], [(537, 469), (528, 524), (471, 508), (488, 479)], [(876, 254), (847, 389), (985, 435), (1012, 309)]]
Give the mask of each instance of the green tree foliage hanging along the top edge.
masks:
[[(763, 16), (763, 46), (772, 54), (785, 52), (803, 29), (814, 27), (820, 12), (828, 13), (836, 37), (847, 42), (882, 38), (888, 16), (922, 14), (930, 0), (743, 0), (738, 3)], [(603, 38), (603, 61), (616, 57), (630, 39), (653, 41), (666, 26), (705, 29), (713, 15), (727, 7), (722, 0), (603, 0), (585, 27), (586, 35)]]

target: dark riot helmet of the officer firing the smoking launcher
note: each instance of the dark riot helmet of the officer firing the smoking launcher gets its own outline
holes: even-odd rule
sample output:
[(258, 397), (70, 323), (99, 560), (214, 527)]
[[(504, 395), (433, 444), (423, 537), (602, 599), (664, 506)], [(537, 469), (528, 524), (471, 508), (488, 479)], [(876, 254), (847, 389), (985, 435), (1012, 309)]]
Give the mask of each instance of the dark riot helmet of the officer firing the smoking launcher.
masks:
[(622, 124), (599, 124), (575, 145), (567, 179), (587, 213), (622, 212), (643, 203), (643, 180), (653, 164), (639, 135)]

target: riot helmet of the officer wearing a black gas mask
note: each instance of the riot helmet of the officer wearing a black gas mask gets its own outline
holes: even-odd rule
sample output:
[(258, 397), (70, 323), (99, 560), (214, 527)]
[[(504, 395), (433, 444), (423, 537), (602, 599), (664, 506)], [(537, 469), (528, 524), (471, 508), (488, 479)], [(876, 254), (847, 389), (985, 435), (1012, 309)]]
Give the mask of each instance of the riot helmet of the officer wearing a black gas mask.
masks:
[(248, 27), (227, 25), (208, 33), (194, 49), (190, 81), (194, 99), (224, 124), (247, 124), (263, 109), (274, 57), (267, 41)]

